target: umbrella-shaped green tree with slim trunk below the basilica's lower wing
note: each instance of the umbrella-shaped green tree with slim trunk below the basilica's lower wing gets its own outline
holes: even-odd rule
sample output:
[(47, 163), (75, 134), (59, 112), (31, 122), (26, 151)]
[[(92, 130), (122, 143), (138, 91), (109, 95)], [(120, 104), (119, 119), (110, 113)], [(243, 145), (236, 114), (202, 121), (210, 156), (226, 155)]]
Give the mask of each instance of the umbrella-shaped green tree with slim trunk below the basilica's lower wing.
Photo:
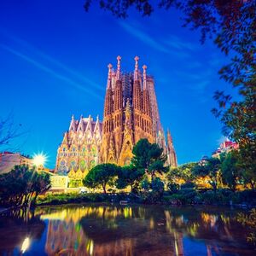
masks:
[(90, 169), (90, 172), (84, 177), (84, 186), (89, 188), (102, 187), (104, 193), (107, 193), (106, 186), (113, 183), (113, 177), (119, 173), (119, 166), (113, 164), (101, 164)]

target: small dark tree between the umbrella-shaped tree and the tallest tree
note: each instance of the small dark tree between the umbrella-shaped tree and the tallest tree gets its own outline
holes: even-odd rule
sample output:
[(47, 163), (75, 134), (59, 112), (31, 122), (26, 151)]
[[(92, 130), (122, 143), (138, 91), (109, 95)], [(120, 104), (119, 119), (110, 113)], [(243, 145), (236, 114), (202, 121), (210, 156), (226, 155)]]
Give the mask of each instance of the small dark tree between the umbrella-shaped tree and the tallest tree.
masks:
[(125, 189), (131, 186), (131, 191), (136, 189), (139, 182), (142, 180), (144, 172), (142, 169), (137, 169), (135, 166), (123, 166), (119, 168), (116, 187)]

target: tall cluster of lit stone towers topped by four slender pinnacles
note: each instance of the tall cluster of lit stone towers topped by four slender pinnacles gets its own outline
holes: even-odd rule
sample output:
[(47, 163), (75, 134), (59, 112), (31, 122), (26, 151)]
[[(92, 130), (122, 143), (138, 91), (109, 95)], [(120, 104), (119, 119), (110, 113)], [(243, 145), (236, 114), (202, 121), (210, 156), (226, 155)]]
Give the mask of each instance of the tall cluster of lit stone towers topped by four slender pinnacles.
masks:
[[(135, 57), (133, 73), (121, 72), (121, 57), (117, 57), (116, 71), (108, 65), (102, 129), (102, 162), (129, 164), (133, 146), (141, 139), (159, 143), (167, 153), (163, 130), (154, 93), (154, 79), (139, 70)], [(174, 150), (174, 149), (173, 149)]]

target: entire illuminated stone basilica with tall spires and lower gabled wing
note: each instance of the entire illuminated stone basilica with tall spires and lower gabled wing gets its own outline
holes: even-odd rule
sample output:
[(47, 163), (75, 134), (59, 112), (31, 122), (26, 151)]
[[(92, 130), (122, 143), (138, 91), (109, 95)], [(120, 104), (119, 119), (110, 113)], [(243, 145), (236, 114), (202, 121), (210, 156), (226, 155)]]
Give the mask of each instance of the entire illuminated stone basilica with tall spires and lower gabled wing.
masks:
[(108, 82), (103, 121), (90, 115), (71, 119), (69, 130), (58, 148), (55, 171), (71, 178), (84, 177), (99, 163), (128, 165), (132, 147), (141, 139), (158, 143), (167, 155), (167, 165), (177, 166), (172, 136), (160, 124), (160, 114), (154, 92), (154, 78), (138, 67), (136, 56), (133, 73), (121, 72), (121, 57), (117, 68), (108, 65)]

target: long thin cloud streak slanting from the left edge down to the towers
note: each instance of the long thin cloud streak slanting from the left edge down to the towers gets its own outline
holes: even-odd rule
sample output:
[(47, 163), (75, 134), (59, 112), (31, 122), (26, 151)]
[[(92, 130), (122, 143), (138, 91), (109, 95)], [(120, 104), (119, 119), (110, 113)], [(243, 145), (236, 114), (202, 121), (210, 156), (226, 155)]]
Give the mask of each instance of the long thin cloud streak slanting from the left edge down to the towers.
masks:
[(9, 51), (13, 55), (16, 55), (16, 56), (20, 57), (22, 60), (31, 63), (34, 67), (38, 67), (39, 69), (43, 70), (44, 72), (49, 73), (50, 75), (52, 75), (56, 79), (60, 79), (64, 82), (66, 82), (67, 84), (72, 85), (73, 88), (83, 90), (84, 92), (90, 94), (91, 96), (96, 96), (96, 97), (99, 97), (99, 98), (102, 99), (102, 97), (99, 96), (98, 94), (96, 94), (94, 90), (89, 90), (88, 88), (85, 88), (84, 85), (73, 81), (73, 79), (69, 79), (68, 77), (62, 75), (61, 73), (55, 72), (55, 70), (53, 70), (49, 67), (46, 67), (44, 64), (40, 63), (39, 61), (36, 61), (36, 60), (32, 59), (31, 56), (25, 55), (25, 54), (21, 53), (20, 51), (12, 49), (12, 48), (10, 48), (9, 46), (7, 46), (5, 44), (0, 44), (0, 47), (2, 49), (5, 49), (5, 50)]

